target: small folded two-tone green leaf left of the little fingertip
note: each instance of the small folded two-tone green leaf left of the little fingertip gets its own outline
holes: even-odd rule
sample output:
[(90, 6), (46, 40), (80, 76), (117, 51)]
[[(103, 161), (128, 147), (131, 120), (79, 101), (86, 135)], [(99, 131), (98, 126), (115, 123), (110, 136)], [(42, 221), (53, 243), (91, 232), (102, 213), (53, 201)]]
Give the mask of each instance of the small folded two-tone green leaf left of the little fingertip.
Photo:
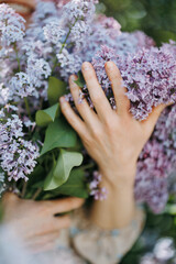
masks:
[(46, 127), (48, 123), (54, 122), (59, 112), (59, 103), (57, 102), (45, 110), (38, 110), (35, 114), (35, 122), (38, 127)]

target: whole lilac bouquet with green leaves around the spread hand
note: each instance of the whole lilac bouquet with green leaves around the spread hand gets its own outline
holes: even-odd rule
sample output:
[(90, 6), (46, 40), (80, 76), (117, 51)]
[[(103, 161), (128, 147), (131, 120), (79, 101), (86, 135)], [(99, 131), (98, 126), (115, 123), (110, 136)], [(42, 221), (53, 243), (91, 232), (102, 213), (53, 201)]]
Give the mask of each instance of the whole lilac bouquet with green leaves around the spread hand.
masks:
[[(82, 62), (92, 63), (112, 108), (105, 63), (118, 65), (130, 111), (140, 121), (154, 106), (175, 102), (175, 43), (157, 48), (142, 32), (122, 33), (113, 18), (96, 14), (96, 3), (38, 1), (28, 30), (19, 14), (0, 4), (2, 190), (11, 188), (21, 197), (37, 199), (106, 197), (106, 190), (98, 188), (101, 176), (95, 162), (59, 110), (61, 96), (73, 103), (68, 77), (78, 73), (81, 97), (94, 107), (79, 72)], [(136, 200), (147, 202), (155, 212), (167, 201), (167, 177), (175, 169), (175, 123), (173, 106), (162, 114), (138, 163)]]

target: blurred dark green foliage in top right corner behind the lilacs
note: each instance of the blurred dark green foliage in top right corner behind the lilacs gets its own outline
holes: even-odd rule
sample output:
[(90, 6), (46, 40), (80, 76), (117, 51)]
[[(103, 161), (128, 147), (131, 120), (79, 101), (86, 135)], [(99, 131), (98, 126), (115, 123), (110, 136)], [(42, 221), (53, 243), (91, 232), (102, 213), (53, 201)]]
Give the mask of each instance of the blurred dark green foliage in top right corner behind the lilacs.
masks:
[(160, 45), (176, 41), (176, 0), (100, 0), (123, 31), (142, 30)]

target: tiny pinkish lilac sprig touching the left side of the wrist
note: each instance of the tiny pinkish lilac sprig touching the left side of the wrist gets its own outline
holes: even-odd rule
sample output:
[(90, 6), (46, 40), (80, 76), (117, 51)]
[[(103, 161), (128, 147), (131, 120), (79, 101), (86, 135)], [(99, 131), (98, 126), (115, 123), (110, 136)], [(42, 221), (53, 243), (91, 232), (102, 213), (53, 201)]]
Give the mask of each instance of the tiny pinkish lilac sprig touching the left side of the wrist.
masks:
[(100, 188), (99, 185), (101, 183), (102, 176), (99, 174), (99, 172), (94, 172), (94, 179), (89, 184), (90, 188), (90, 196), (95, 197), (95, 200), (105, 200), (107, 199), (108, 191), (105, 187)]

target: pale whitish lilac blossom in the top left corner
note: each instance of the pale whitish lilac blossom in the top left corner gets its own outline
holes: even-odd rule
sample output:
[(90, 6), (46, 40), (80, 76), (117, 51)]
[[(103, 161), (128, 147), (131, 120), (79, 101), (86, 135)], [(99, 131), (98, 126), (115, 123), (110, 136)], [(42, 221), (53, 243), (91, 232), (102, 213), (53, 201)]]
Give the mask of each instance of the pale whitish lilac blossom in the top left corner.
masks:
[(24, 36), (25, 20), (8, 4), (0, 4), (0, 46), (7, 47)]

